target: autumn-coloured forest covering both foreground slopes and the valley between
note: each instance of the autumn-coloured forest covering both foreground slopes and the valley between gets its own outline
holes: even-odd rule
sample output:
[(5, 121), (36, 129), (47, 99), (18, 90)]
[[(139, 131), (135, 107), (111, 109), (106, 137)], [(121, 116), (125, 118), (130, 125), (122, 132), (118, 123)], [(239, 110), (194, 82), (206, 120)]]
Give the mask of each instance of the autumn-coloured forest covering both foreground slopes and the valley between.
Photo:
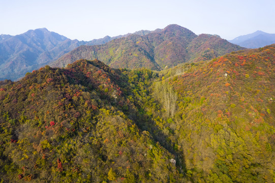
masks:
[(274, 182), (274, 64), (270, 45), (159, 72), (81, 59), (1, 81), (1, 182)]

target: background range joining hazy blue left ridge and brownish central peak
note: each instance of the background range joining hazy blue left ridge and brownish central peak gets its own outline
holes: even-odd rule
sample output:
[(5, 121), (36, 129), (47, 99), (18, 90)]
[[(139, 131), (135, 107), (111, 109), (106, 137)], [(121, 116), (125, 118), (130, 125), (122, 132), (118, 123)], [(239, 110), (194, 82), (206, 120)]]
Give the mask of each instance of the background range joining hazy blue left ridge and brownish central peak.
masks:
[(106, 36), (88, 42), (70, 40), (40, 28), (17, 36), (0, 36), (0, 80), (17, 80), (42, 66), (64, 67), (81, 58), (98, 58), (114, 68), (162, 70), (240, 49), (244, 48), (230, 44), (219, 36), (197, 36), (175, 24), (155, 31)]

